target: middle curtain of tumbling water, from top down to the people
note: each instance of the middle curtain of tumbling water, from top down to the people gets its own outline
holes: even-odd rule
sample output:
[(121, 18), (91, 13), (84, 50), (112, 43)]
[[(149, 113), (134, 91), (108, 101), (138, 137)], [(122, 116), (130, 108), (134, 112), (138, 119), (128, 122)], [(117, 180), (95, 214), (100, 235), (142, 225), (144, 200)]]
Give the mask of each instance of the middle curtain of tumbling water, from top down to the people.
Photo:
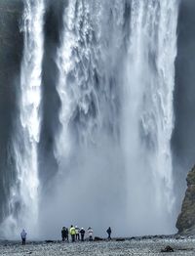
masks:
[[(118, 171), (122, 157), (116, 143), (120, 91), (117, 62), (122, 58), (125, 22), (125, 4), (121, 3), (116, 0), (110, 6), (107, 1), (73, 0), (65, 6), (57, 54), (61, 129), (56, 136), (55, 154), (59, 179), (53, 184), (58, 189), (52, 200), (59, 212), (58, 225), (64, 219), (63, 211), (66, 222), (89, 225), (85, 216), (78, 214), (79, 208), (85, 207), (94, 216), (91, 225), (97, 226), (98, 232), (95, 220), (99, 215), (104, 216), (101, 220), (106, 225), (111, 209), (113, 216), (119, 213), (119, 207), (123, 209), (125, 189), (116, 192), (117, 182), (124, 179)], [(51, 197), (47, 200), (47, 212), (54, 216), (54, 205), (49, 206)], [(116, 223), (119, 227), (120, 221)]]

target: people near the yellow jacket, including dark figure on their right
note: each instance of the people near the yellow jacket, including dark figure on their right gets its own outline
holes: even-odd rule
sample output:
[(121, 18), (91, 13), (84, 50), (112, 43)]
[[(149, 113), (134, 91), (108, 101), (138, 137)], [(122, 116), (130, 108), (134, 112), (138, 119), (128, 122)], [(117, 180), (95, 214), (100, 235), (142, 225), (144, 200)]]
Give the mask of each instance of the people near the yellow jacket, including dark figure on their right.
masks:
[[(85, 238), (85, 234), (88, 234), (89, 240), (92, 241), (93, 240), (93, 229), (91, 227), (88, 228), (87, 232), (84, 230), (84, 228), (79, 229), (77, 226), (70, 226), (70, 229), (68, 230), (68, 228), (62, 227), (61, 230), (61, 238), (62, 241), (69, 241), (69, 235), (71, 235), (71, 240), (72, 242), (74, 241), (84, 241)], [(109, 227), (106, 231), (107, 235), (108, 235), (108, 239), (111, 239), (111, 228)]]

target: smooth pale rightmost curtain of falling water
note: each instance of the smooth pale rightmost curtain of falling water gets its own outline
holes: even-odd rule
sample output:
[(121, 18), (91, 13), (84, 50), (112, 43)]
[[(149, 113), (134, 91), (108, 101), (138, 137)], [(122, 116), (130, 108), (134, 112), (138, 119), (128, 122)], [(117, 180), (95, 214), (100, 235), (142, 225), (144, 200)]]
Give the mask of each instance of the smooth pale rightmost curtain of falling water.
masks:
[[(132, 1), (123, 140), (130, 228), (175, 232), (174, 128), (177, 1)], [(138, 228), (137, 228), (138, 227)]]

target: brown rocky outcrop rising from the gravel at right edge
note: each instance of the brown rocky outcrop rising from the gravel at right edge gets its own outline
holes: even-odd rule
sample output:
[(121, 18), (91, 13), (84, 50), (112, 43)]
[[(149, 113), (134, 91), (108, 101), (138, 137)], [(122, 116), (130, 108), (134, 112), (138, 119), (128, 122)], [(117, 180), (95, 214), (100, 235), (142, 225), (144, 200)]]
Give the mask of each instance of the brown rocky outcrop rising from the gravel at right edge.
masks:
[(176, 222), (179, 234), (195, 234), (195, 166), (187, 175), (187, 190)]

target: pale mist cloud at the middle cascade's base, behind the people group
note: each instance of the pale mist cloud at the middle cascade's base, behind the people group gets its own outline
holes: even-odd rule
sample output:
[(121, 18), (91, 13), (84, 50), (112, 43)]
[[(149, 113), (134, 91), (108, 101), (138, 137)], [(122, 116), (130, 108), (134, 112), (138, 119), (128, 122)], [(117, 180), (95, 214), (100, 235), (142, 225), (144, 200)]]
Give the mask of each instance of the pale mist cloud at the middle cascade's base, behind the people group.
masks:
[(124, 235), (127, 198), (121, 153), (111, 142), (102, 142), (102, 138), (100, 142), (97, 147), (76, 149), (77, 154), (43, 197), (43, 237), (57, 238), (60, 228), (70, 225), (93, 227), (96, 235), (105, 235), (110, 226), (113, 234)]

